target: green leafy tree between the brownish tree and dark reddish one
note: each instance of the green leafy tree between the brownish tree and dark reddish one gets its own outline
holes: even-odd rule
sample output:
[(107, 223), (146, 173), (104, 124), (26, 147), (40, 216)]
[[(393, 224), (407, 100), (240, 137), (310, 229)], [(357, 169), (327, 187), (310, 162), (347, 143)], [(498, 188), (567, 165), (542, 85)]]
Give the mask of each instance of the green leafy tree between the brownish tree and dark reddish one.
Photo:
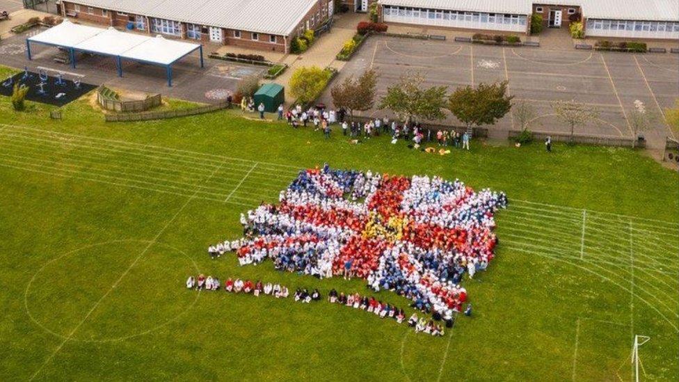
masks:
[(415, 117), (442, 120), (445, 118), (443, 109), (447, 86), (423, 89), (424, 79), (422, 73), (404, 73), (399, 83), (387, 88), (387, 95), (382, 97), (378, 109), (389, 109), (408, 124)]

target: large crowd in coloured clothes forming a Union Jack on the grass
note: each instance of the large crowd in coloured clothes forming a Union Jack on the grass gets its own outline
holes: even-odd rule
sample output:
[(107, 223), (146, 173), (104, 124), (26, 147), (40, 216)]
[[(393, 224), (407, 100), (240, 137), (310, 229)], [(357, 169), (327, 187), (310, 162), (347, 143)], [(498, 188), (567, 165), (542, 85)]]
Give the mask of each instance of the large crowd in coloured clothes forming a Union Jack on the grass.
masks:
[(459, 180), (324, 166), (302, 170), (278, 205), (243, 214), (243, 239), (209, 252), (235, 251), (241, 265), (269, 258), (281, 271), (363, 278), (448, 322), (468, 299), (463, 276), (493, 260), (494, 214), (506, 203), (504, 193)]

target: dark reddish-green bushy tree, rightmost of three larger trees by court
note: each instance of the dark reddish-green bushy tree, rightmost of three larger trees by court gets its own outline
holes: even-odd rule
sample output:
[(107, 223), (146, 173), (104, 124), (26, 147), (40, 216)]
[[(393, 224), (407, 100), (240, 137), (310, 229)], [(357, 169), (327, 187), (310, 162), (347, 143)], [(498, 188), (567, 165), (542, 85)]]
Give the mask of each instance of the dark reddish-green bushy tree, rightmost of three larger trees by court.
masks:
[(507, 95), (507, 81), (479, 83), (477, 88), (457, 88), (448, 99), (448, 110), (469, 129), (495, 125), (509, 113), (513, 95)]

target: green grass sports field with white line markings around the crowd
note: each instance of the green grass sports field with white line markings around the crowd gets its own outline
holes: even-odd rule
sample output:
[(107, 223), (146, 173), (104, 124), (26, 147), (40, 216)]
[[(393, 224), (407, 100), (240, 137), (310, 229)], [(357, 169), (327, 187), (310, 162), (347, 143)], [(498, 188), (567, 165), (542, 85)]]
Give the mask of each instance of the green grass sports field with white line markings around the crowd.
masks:
[[(651, 338), (641, 378), (679, 378), (679, 177), (641, 152), (473, 142), (441, 157), (227, 111), (106, 124), (78, 101), (50, 120), (5, 97), (0, 122), (3, 381), (630, 381), (636, 334)], [(184, 288), (200, 271), (366, 292), (206, 252), (323, 162), (506, 191), (497, 258), (465, 280), (473, 317), (430, 337), (325, 302)]]

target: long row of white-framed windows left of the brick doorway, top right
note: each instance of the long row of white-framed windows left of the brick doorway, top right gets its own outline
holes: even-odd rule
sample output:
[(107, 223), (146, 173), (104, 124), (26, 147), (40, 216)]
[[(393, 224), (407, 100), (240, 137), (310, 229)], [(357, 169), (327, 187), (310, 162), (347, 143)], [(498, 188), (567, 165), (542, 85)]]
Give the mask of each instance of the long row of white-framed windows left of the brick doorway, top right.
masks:
[(461, 12), (456, 10), (436, 10), (424, 8), (404, 8), (385, 6), (385, 16), (410, 17), (433, 20), (450, 20), (461, 22), (482, 22), (488, 24), (526, 25), (525, 15), (499, 15), (496, 13)]

